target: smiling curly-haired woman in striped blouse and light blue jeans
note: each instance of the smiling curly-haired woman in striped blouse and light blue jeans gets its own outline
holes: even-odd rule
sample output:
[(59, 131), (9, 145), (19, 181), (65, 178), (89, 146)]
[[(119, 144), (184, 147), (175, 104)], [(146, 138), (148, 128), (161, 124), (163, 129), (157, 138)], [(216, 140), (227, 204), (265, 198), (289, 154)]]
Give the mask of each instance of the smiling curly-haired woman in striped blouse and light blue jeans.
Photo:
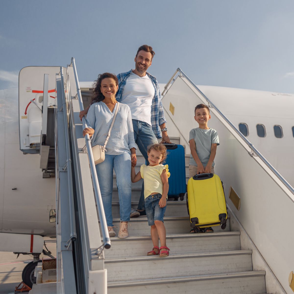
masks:
[[(91, 145), (103, 146), (106, 140), (116, 107), (115, 99), (118, 79), (110, 73), (100, 74), (94, 83), (91, 106), (87, 114), (88, 128), (83, 136), (93, 135)], [(105, 149), (105, 160), (96, 165), (101, 196), (110, 237), (116, 233), (112, 223), (113, 168), (116, 173), (116, 185), (120, 205), (121, 223), (118, 238), (128, 237), (128, 221), (131, 212), (131, 165), (136, 165), (136, 144), (129, 106), (119, 103), (116, 120)]]

